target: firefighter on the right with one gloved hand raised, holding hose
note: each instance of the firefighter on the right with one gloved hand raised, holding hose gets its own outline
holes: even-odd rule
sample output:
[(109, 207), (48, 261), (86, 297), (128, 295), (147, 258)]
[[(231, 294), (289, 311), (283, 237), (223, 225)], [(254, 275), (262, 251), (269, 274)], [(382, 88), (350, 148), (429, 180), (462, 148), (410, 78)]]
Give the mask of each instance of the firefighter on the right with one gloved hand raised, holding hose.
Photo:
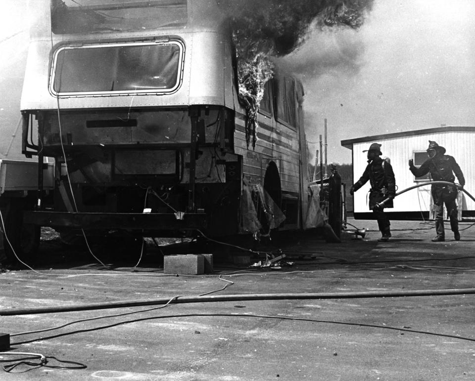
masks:
[(433, 242), (443, 242), (445, 240), (444, 204), (450, 218), (450, 227), (454, 232), (454, 238), (456, 241), (460, 240), (457, 204), (455, 200), (457, 198), (458, 189), (463, 189), (465, 185), (465, 178), (455, 159), (452, 156), (444, 154), (444, 147), (429, 140), (429, 148), (427, 148), (428, 159), (421, 167), (415, 167), (414, 161), (412, 159), (409, 160), (409, 169), (416, 177), (424, 176), (430, 172), (430, 177), (434, 181), (448, 181), (454, 183), (455, 176), (457, 176), (460, 183), (460, 185), (432, 184), (431, 193), (434, 202), (435, 231), (437, 233), (435, 238), (432, 239)]

